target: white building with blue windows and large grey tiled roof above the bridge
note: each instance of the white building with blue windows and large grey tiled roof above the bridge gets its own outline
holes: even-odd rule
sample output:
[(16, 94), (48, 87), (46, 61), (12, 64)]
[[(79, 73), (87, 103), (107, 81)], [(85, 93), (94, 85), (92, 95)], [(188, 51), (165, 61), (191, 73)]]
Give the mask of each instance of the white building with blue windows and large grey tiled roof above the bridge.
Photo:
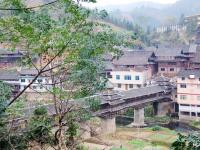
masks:
[[(144, 87), (155, 74), (155, 57), (152, 51), (124, 51), (124, 55), (112, 62), (110, 82), (115, 90), (130, 90)], [(110, 65), (111, 66), (111, 65)]]

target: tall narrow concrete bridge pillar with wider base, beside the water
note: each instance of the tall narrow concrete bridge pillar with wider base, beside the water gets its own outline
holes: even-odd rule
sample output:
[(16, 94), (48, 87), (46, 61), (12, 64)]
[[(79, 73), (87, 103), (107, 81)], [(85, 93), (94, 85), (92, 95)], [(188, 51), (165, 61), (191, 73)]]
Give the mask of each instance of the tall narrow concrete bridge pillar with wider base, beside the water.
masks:
[(144, 126), (144, 108), (134, 109), (134, 126)]

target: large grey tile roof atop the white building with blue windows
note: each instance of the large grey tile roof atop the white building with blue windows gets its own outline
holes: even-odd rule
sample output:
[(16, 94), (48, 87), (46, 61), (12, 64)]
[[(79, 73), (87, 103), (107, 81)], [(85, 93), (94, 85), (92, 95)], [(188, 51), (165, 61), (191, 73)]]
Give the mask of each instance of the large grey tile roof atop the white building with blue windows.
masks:
[(114, 65), (131, 66), (131, 65), (146, 65), (149, 64), (149, 58), (153, 54), (152, 51), (124, 51), (124, 55), (113, 61)]

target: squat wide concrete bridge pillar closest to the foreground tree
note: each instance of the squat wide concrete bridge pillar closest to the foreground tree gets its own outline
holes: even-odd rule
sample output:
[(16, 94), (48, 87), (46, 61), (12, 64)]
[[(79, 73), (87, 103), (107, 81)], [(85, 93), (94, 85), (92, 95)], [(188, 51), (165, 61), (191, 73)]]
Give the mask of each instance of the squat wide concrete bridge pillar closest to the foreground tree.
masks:
[(101, 130), (102, 134), (111, 134), (116, 132), (116, 119), (112, 118), (101, 118)]

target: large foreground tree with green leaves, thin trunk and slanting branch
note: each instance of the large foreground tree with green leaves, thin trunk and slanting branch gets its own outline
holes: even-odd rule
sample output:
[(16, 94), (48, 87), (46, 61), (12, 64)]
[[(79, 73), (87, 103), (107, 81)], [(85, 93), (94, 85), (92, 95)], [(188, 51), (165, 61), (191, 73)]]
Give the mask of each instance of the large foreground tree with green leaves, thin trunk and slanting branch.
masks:
[[(38, 84), (53, 97), (49, 105), (50, 108), (53, 106), (51, 111), (55, 122), (49, 122), (45, 113), (38, 115), (36, 109), (34, 116), (28, 120), (28, 135), (23, 137), (37, 141), (42, 147), (46, 142), (51, 144), (51, 140), (46, 139), (53, 134), (56, 149), (76, 149), (80, 143), (77, 142), (76, 124), (87, 110), (82, 110), (80, 101), (74, 104), (70, 100), (93, 95), (104, 88), (106, 80), (102, 75), (101, 56), (105, 52), (118, 54), (115, 47), (121, 42), (110, 28), (88, 19), (90, 11), (81, 7), (79, 0), (57, 0), (29, 8), (22, 0), (4, 0), (0, 5), (9, 12), (0, 18), (0, 41), (11, 49), (23, 49), (26, 52), (23, 64), (34, 67), (38, 72), (3, 110), (15, 104), (28, 88), (32, 88), (38, 77), (45, 75), (51, 79), (48, 85), (52, 89), (47, 89), (44, 83)], [(42, 62), (44, 55), (48, 56), (46, 62), (35, 63), (35, 56), (38, 62)], [(91, 106), (97, 108), (96, 103)], [(56, 131), (50, 133), (52, 124)]]

